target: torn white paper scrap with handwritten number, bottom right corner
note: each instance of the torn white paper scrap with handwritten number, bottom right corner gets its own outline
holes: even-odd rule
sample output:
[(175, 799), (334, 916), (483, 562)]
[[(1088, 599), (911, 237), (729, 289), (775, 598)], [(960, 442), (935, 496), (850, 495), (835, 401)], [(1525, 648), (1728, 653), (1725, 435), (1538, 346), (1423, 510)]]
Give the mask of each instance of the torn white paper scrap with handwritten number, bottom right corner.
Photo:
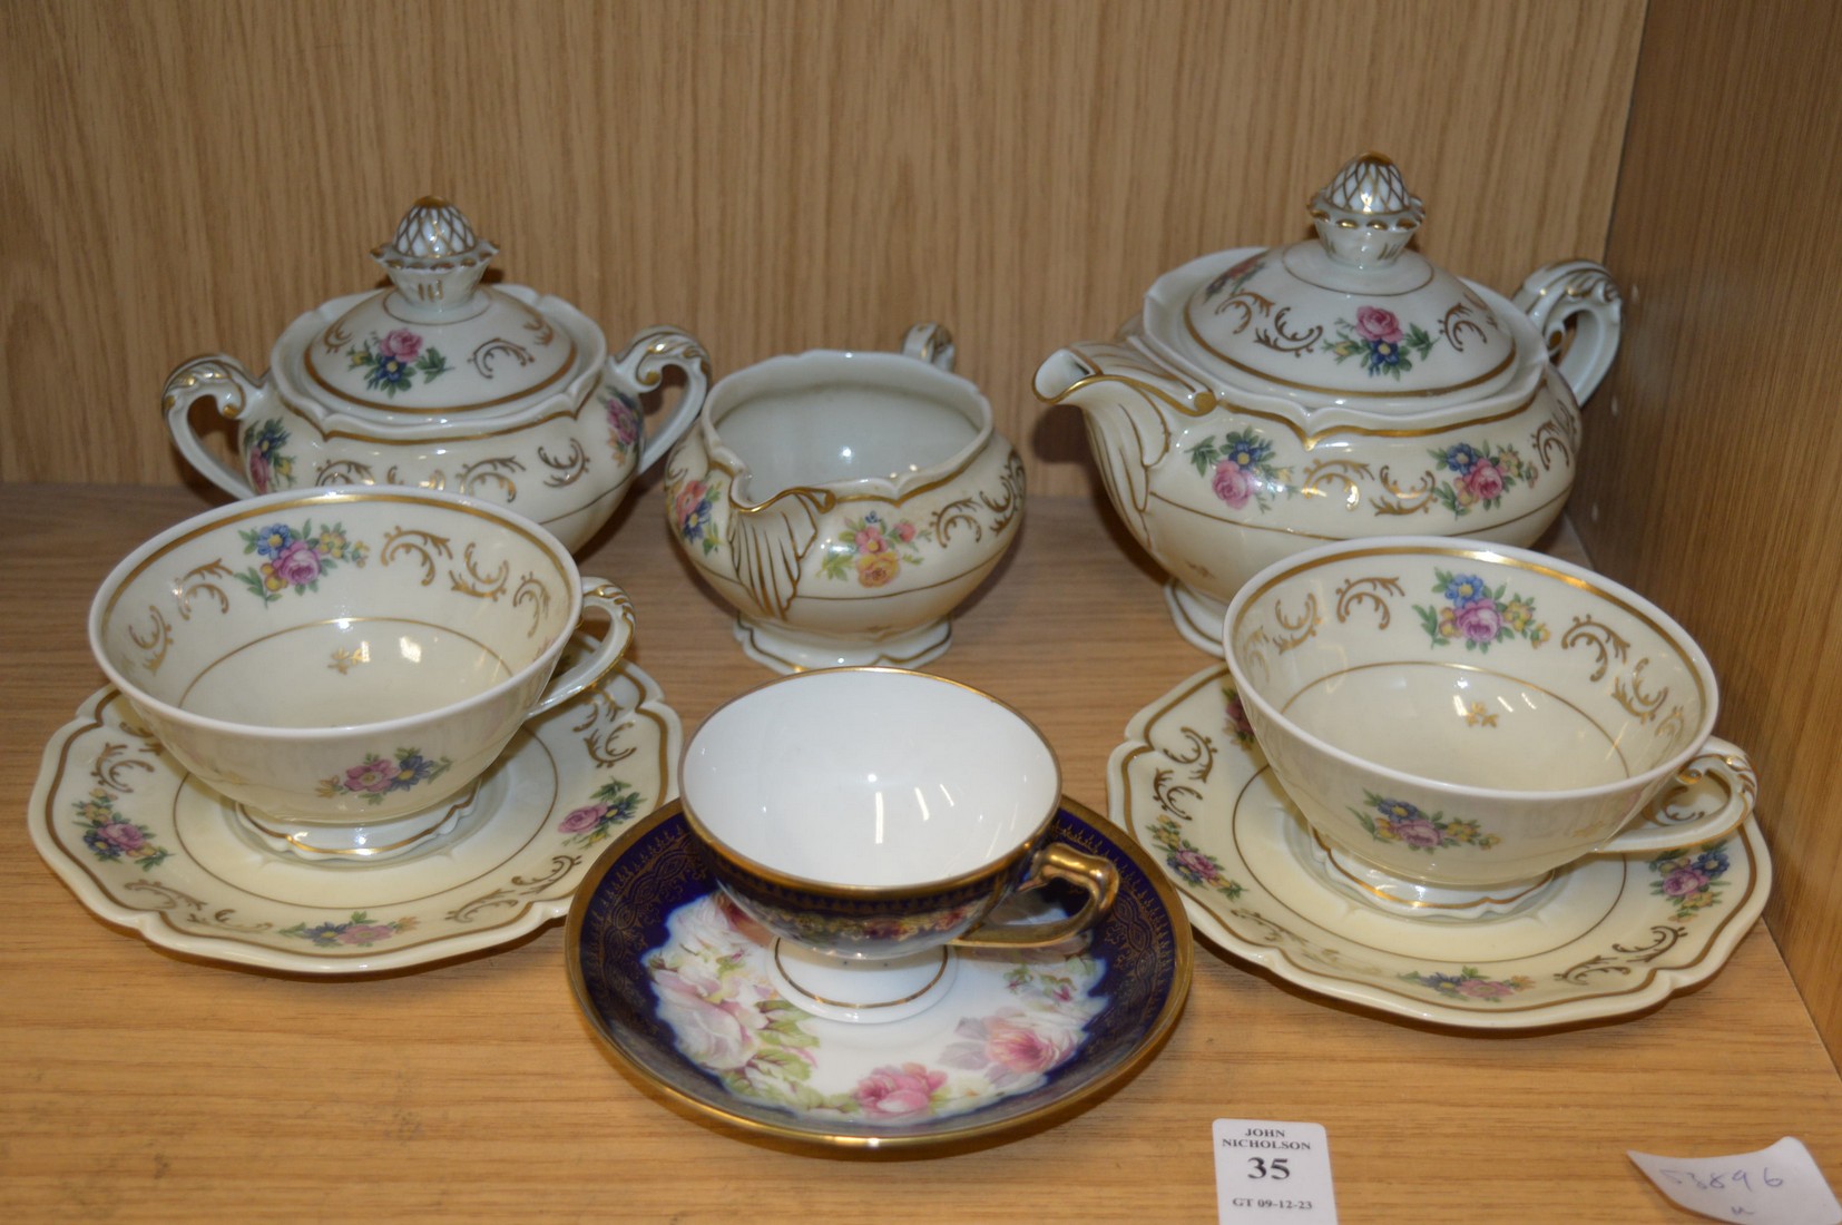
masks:
[(1689, 1212), (1746, 1225), (1842, 1225), (1842, 1205), (1796, 1137), (1737, 1157), (1626, 1155)]

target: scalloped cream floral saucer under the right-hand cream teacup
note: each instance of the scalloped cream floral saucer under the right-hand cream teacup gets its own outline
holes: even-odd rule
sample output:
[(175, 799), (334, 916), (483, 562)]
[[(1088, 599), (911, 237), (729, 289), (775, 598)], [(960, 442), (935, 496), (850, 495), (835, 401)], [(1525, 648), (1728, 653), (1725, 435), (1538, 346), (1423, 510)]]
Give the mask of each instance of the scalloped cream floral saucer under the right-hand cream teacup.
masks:
[(1111, 816), (1197, 932), (1306, 991), (1490, 1030), (1623, 1017), (1709, 978), (1765, 910), (1772, 868), (1748, 816), (1680, 851), (1588, 857), (1509, 914), (1385, 912), (1273, 781), (1232, 683), (1227, 665), (1203, 669), (1133, 717), (1107, 768)]

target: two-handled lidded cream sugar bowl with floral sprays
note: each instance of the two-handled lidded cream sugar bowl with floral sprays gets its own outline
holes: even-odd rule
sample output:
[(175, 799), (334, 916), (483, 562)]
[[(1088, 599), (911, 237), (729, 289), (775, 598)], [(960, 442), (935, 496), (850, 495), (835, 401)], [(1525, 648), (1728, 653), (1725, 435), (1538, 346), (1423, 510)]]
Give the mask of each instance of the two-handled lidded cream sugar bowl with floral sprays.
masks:
[[(181, 453), (234, 497), (420, 484), (503, 503), (582, 547), (696, 416), (709, 359), (674, 328), (610, 356), (567, 302), (484, 284), (494, 254), (459, 208), (416, 201), (372, 252), (391, 287), (297, 319), (262, 379), (223, 354), (173, 370), (162, 407)], [(639, 396), (670, 368), (683, 394), (648, 433)], [(201, 400), (236, 422), (234, 464), (199, 438)]]

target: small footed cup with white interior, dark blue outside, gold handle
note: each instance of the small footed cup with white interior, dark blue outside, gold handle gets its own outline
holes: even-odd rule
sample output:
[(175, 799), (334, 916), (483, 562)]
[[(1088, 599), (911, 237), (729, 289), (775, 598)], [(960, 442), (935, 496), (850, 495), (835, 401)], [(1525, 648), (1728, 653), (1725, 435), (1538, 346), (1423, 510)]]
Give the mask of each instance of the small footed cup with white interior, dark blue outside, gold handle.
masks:
[[(879, 735), (840, 735), (875, 724)], [(1048, 836), (1061, 768), (1017, 711), (901, 669), (781, 676), (685, 746), (685, 822), (711, 875), (772, 932), (772, 980), (805, 1011), (886, 1024), (952, 987), (960, 949), (1039, 949), (1098, 923), (1103, 857)], [(993, 923), (1013, 893), (1074, 886), (1076, 914)]]

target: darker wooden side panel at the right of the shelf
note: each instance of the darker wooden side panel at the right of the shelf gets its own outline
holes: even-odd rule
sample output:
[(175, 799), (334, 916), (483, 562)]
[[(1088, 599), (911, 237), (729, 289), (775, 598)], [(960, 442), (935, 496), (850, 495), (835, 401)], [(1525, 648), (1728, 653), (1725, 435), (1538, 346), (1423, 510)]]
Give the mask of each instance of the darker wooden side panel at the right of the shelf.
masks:
[[(1625, 350), (1571, 516), (1593, 564), (1673, 612), (1759, 766), (1766, 919), (1842, 1056), (1842, 9), (1658, 0), (1608, 262)], [(1685, 123), (1685, 116), (1696, 116)]]

